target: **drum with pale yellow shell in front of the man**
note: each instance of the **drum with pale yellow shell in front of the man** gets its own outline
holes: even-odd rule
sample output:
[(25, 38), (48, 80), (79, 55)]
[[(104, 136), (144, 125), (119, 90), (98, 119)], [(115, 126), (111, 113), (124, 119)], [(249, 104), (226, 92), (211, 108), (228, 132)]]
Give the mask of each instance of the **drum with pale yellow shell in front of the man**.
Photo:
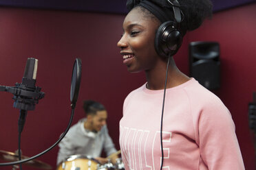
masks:
[(72, 155), (56, 170), (97, 170), (98, 161), (83, 155)]

